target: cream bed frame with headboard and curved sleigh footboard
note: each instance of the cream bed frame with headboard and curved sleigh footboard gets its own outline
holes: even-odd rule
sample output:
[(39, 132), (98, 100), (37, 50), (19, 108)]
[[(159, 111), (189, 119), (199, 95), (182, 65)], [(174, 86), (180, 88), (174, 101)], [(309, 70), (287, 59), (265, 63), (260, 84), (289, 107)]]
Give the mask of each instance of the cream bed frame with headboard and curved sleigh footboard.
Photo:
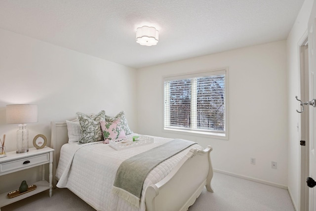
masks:
[[(60, 149), (65, 143), (68, 143), (66, 122), (52, 122), (51, 147), (55, 150), (53, 175), (56, 174)], [(145, 194), (146, 211), (187, 211), (202, 192), (204, 185), (207, 191), (213, 192), (213, 168), (210, 159), (212, 149), (211, 146), (204, 150), (191, 149), (164, 179), (149, 186)], [(57, 178), (54, 176), (54, 186), (56, 182)]]

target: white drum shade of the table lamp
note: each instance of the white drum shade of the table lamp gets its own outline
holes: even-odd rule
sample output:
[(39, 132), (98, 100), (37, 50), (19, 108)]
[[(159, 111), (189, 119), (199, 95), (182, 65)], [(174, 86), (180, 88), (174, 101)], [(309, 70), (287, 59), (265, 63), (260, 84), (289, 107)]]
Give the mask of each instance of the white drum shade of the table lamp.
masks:
[(38, 105), (6, 105), (6, 123), (23, 124), (38, 122)]

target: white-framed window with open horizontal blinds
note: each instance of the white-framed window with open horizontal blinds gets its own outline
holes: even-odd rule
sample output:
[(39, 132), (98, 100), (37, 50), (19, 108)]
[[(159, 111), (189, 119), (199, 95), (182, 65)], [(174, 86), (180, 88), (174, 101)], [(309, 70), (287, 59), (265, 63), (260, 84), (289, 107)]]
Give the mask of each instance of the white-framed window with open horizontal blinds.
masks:
[(227, 70), (164, 78), (164, 129), (227, 138)]

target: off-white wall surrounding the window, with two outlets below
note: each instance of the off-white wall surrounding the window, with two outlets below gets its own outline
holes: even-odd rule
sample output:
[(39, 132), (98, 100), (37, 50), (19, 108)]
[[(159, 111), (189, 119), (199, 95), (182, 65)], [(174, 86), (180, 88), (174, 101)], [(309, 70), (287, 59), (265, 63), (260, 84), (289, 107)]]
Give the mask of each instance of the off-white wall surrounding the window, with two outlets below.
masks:
[[(229, 140), (164, 132), (162, 77), (221, 67), (229, 67)], [(214, 169), (287, 186), (285, 41), (139, 69), (137, 80), (140, 133), (211, 145)]]

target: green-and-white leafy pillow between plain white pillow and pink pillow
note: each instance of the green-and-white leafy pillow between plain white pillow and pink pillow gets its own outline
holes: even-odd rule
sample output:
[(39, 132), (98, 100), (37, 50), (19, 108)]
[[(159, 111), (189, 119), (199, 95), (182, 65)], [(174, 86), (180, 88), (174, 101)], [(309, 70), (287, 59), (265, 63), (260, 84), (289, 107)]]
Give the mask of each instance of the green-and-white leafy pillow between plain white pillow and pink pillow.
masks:
[(82, 136), (79, 143), (90, 143), (103, 140), (100, 121), (105, 121), (105, 111), (100, 111), (95, 117), (77, 112)]

